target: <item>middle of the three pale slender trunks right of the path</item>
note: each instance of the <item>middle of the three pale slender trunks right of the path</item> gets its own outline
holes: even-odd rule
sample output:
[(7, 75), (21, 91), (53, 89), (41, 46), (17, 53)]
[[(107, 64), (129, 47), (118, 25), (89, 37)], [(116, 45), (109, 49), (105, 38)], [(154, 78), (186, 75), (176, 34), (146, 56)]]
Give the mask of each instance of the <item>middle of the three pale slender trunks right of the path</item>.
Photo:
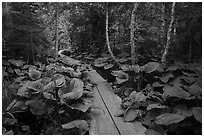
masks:
[(135, 2), (134, 4), (134, 8), (132, 10), (132, 15), (131, 15), (131, 23), (130, 23), (130, 42), (131, 42), (131, 58), (132, 58), (132, 65), (135, 65), (135, 57), (136, 57), (136, 53), (135, 53), (135, 36), (134, 36), (134, 32), (135, 32), (135, 11), (138, 8), (139, 3)]

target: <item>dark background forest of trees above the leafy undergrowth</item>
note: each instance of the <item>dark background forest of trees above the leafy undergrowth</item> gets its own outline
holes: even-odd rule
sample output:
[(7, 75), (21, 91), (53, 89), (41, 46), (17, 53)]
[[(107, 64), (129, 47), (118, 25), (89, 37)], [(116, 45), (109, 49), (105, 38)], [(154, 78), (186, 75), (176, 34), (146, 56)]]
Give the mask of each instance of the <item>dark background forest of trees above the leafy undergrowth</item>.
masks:
[(161, 61), (168, 36), (168, 60), (202, 56), (202, 3), (196, 2), (4, 2), (2, 23), (3, 58), (28, 63), (68, 48), (100, 56), (108, 51), (107, 34), (113, 55), (132, 56), (133, 63)]

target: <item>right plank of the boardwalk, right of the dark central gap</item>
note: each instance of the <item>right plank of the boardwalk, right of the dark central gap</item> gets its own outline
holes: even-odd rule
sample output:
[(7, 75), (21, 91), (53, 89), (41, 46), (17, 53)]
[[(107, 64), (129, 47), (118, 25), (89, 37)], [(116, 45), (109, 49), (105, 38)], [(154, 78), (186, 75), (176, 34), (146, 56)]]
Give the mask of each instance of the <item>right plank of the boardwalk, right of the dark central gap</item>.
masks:
[[(119, 130), (119, 134), (121, 135), (144, 135), (146, 128), (141, 125), (140, 122), (124, 122), (123, 118), (115, 117), (116, 114), (121, 113), (123, 110), (120, 106), (121, 99), (114, 94), (110, 85), (101, 79), (100, 75), (97, 72), (90, 73), (90, 77), (93, 82), (97, 84), (97, 88), (99, 91), (99, 95), (102, 97), (106, 108), (108, 109), (114, 124), (117, 126)], [(99, 79), (99, 78), (100, 79)], [(101, 81), (100, 81), (101, 80)]]

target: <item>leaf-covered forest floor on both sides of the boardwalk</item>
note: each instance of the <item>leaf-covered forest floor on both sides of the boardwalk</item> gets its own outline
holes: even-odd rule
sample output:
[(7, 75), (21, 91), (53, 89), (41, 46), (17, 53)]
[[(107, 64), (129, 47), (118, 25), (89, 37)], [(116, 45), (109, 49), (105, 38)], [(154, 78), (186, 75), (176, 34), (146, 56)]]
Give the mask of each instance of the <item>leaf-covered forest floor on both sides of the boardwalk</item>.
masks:
[(3, 60), (3, 134), (90, 134), (90, 111), (100, 110), (87, 77), (93, 69), (122, 100), (116, 117), (141, 123), (144, 134), (202, 134), (200, 63), (130, 65), (119, 58), (118, 68), (107, 55), (73, 56), (34, 65)]

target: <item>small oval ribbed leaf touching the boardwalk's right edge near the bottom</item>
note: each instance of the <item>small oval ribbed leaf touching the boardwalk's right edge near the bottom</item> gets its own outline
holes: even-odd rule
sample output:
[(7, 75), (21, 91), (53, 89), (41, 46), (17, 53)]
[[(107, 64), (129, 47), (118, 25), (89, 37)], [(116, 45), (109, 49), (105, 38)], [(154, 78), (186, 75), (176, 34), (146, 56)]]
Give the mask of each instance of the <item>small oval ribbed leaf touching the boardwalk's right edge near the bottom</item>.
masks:
[(125, 122), (130, 122), (135, 120), (135, 118), (138, 116), (139, 110), (135, 108), (127, 108), (125, 113), (124, 113), (124, 121)]

